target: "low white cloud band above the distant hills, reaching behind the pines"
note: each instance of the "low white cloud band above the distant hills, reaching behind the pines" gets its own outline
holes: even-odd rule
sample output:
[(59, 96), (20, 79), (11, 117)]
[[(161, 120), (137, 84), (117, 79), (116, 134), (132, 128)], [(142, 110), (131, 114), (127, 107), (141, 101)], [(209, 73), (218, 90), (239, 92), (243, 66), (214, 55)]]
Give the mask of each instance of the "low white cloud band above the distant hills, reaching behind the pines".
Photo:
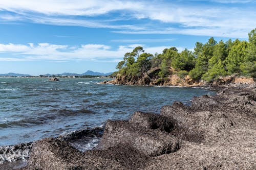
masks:
[[(123, 58), (127, 52), (131, 52), (136, 46), (142, 44), (120, 45), (112, 49), (104, 44), (82, 44), (79, 47), (57, 45), (50, 43), (0, 44), (0, 61), (104, 61), (116, 62)], [(146, 53), (161, 53), (168, 46), (145, 46)], [(182, 49), (179, 48), (178, 49)]]

